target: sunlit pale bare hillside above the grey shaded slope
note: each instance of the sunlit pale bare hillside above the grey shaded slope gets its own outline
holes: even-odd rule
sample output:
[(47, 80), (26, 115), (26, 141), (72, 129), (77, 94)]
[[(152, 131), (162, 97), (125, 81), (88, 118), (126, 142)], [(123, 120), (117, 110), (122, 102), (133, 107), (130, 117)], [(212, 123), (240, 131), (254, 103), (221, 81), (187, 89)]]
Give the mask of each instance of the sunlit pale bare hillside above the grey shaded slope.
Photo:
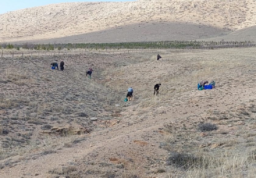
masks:
[[(52, 4), (1, 14), (1, 40), (3, 43), (53, 39), (151, 21), (190, 22), (239, 30), (256, 24), (255, 7), (254, 0), (138, 0)], [(154, 28), (151, 30), (150, 33), (155, 31)], [(190, 30), (186, 32), (190, 33)], [(141, 41), (148, 40), (143, 38), (143, 29), (139, 34), (142, 36)]]

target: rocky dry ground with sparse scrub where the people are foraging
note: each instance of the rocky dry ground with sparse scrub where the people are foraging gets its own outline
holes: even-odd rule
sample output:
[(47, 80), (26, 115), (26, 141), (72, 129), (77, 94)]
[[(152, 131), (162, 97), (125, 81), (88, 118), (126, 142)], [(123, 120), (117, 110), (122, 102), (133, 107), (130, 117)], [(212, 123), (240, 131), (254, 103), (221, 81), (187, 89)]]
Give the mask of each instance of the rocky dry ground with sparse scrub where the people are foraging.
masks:
[(255, 49), (156, 54), (4, 58), (1, 177), (253, 178)]

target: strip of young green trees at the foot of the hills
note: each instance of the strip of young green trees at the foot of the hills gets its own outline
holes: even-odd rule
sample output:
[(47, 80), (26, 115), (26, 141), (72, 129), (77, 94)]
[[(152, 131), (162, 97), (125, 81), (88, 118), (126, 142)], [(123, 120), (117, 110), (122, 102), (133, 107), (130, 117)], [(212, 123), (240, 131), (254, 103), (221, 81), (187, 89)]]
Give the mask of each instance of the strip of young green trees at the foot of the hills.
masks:
[(67, 43), (67, 44), (1, 44), (5, 49), (31, 49), (31, 50), (62, 50), (62, 49), (205, 49), (205, 48), (229, 48), (251, 47), (256, 43), (251, 41), (162, 41), (162, 42), (130, 42), (130, 43)]

